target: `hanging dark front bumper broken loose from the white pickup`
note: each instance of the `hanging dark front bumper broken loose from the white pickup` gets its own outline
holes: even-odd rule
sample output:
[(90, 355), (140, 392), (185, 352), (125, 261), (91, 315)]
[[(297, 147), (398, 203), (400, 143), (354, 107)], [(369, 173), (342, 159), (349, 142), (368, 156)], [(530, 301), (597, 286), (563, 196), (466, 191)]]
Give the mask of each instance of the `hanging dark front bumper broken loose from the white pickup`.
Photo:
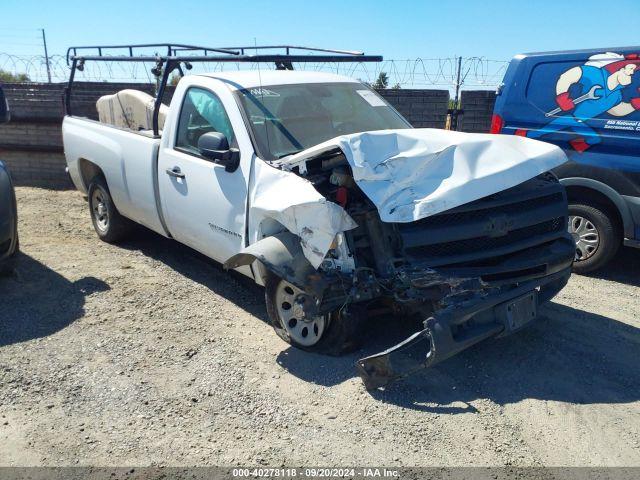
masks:
[[(424, 329), (399, 344), (356, 363), (367, 390), (381, 388), (497, 335), (508, 335), (537, 318), (538, 305), (567, 283), (571, 267), (481, 299), (445, 308), (424, 322)], [(471, 321), (473, 320), (473, 321)], [(466, 324), (464, 328), (460, 328)]]

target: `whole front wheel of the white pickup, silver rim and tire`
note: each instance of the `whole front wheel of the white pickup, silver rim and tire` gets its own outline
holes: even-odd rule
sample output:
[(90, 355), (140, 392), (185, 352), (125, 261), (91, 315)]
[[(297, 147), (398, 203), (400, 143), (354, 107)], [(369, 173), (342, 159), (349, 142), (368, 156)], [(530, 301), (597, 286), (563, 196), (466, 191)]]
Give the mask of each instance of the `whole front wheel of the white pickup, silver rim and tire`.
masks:
[(302, 306), (312, 298), (295, 285), (270, 274), (265, 282), (267, 314), (276, 334), (288, 344), (316, 353), (341, 355), (359, 346), (361, 315), (344, 308), (305, 318)]

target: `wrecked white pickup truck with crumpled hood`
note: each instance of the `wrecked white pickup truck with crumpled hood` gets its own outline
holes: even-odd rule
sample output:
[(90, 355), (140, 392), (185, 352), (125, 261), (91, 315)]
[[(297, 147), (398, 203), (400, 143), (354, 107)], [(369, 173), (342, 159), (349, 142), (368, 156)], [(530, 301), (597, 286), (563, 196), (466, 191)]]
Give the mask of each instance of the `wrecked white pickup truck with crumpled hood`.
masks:
[(358, 361), (368, 388), (520, 329), (568, 280), (566, 196), (545, 173), (565, 161), (556, 147), (412, 129), (368, 86), (319, 72), (189, 75), (158, 110), (156, 135), (64, 119), (98, 237), (135, 222), (237, 269), (299, 348), (354, 348), (373, 311), (418, 317)]

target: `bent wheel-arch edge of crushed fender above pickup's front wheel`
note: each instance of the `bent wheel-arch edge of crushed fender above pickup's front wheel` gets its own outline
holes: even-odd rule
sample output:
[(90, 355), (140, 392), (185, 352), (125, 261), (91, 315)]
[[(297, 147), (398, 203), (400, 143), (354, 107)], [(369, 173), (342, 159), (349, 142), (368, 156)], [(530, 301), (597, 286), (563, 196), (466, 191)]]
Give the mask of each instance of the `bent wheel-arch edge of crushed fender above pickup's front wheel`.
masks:
[(278, 277), (318, 298), (327, 286), (324, 277), (305, 257), (300, 238), (291, 232), (263, 238), (229, 258), (223, 266), (234, 269), (256, 260)]

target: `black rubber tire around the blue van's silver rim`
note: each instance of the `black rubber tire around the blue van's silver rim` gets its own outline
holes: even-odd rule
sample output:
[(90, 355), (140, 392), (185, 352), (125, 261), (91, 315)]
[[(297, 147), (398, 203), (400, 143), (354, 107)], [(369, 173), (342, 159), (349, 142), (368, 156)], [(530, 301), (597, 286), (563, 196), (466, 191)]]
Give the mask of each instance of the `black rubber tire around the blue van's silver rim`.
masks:
[[(581, 217), (590, 222), (598, 233), (599, 243), (590, 256), (573, 264), (575, 273), (587, 273), (603, 267), (611, 260), (622, 243), (622, 229), (612, 212), (604, 206), (585, 203), (569, 204), (569, 218)], [(571, 225), (569, 225), (571, 231)]]

